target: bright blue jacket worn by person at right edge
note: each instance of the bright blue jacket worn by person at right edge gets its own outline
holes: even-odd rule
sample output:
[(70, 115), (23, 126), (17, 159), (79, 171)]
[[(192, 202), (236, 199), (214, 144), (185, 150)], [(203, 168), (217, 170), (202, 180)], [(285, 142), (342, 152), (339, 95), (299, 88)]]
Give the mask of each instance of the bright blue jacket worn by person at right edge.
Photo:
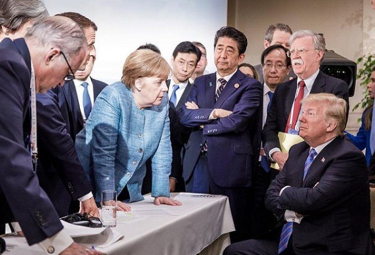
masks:
[(354, 143), (354, 145), (360, 149), (363, 150), (366, 148), (366, 162), (367, 166), (370, 165), (371, 160), (371, 149), (370, 149), (370, 134), (371, 134), (371, 128), (366, 130), (364, 128), (364, 116), (366, 115), (366, 112), (368, 110), (372, 110), (372, 107), (365, 108), (362, 114), (362, 122), (360, 124), (359, 130), (356, 135), (353, 135), (351, 133), (345, 132), (347, 137)]

